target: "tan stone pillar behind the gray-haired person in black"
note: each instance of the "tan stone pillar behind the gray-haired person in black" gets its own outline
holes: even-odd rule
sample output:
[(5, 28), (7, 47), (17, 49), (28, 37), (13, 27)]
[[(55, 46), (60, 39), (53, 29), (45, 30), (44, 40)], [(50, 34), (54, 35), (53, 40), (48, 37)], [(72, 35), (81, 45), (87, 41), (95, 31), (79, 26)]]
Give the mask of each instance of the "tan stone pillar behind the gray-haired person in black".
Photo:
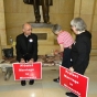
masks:
[(75, 0), (74, 18), (80, 17), (87, 24), (87, 30), (91, 32), (95, 0)]

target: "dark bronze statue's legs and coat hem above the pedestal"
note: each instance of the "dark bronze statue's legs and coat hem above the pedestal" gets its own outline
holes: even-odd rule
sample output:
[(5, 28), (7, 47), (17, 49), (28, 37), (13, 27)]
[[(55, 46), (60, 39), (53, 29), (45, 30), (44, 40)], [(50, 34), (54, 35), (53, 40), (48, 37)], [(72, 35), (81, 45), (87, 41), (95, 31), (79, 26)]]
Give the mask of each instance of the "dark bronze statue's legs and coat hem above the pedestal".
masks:
[(23, 2), (26, 4), (33, 4), (35, 23), (40, 23), (41, 20), (40, 6), (42, 6), (44, 23), (50, 22), (48, 7), (53, 4), (52, 0), (23, 0)]

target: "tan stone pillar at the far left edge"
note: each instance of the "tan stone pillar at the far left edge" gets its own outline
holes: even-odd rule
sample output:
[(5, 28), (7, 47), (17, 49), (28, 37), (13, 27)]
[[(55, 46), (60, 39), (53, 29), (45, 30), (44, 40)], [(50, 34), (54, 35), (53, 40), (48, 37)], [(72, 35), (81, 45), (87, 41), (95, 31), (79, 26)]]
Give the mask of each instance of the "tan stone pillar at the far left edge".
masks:
[(2, 58), (2, 46), (1, 45), (7, 45), (3, 0), (0, 0), (0, 58)]

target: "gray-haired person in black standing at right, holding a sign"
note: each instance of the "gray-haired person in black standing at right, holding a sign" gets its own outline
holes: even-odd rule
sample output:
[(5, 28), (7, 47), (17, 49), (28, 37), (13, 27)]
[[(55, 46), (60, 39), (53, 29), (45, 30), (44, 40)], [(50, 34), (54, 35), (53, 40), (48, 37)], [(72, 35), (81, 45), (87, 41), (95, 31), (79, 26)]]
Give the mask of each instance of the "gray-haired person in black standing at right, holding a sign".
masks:
[[(71, 26), (76, 34), (76, 40), (72, 45), (72, 67), (69, 67), (69, 71), (84, 75), (89, 63), (91, 34), (86, 30), (86, 23), (80, 18), (73, 19)], [(66, 93), (66, 95), (69, 97), (78, 97), (73, 93)]]

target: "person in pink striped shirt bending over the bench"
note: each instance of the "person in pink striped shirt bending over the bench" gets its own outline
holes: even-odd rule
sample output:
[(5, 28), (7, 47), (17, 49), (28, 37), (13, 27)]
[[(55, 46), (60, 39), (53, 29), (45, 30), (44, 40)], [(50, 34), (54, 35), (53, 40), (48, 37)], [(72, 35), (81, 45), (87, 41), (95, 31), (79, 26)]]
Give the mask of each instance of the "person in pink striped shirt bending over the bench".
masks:
[[(57, 43), (60, 45), (60, 52), (63, 53), (62, 66), (69, 68), (71, 67), (71, 50), (74, 40), (69, 32), (63, 31), (62, 26), (54, 24), (52, 32), (57, 36)], [(53, 79), (56, 83), (60, 83), (60, 77)]]

